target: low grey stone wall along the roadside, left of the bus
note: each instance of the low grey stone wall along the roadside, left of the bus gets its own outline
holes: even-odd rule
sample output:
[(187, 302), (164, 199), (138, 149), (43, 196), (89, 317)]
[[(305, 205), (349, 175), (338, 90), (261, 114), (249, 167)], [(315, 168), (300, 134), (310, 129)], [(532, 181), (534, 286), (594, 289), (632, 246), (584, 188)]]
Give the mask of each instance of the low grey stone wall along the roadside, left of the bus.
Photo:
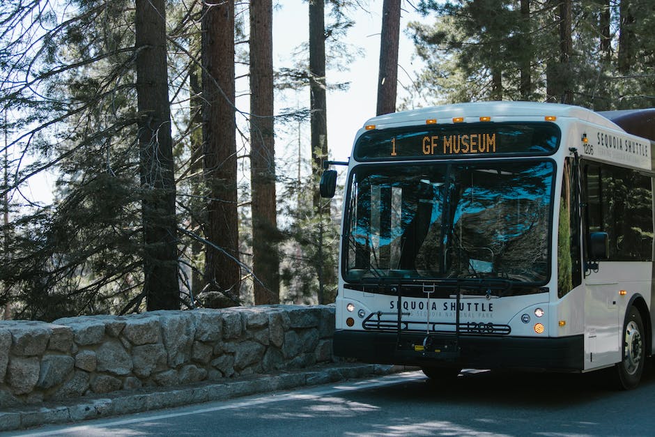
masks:
[(308, 367), (333, 332), (331, 306), (0, 321), (0, 407)]

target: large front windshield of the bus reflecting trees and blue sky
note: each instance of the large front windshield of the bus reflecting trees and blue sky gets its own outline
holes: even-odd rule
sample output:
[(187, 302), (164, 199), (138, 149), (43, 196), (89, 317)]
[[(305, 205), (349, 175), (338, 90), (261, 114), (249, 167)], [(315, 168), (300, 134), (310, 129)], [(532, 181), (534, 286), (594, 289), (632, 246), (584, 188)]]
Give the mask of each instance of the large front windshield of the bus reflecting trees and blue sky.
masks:
[(344, 279), (546, 284), (554, 177), (550, 160), (355, 167)]

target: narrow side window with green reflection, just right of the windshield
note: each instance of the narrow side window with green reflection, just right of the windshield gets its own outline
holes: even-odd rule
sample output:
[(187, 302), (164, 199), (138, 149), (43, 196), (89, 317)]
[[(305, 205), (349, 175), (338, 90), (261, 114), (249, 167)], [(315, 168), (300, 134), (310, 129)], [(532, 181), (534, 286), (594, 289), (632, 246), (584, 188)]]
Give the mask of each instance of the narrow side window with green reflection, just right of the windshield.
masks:
[(576, 178), (571, 175), (571, 162), (564, 162), (564, 180), (560, 196), (560, 225), (557, 229), (557, 294), (564, 296), (582, 282), (580, 262), (580, 221), (577, 217)]

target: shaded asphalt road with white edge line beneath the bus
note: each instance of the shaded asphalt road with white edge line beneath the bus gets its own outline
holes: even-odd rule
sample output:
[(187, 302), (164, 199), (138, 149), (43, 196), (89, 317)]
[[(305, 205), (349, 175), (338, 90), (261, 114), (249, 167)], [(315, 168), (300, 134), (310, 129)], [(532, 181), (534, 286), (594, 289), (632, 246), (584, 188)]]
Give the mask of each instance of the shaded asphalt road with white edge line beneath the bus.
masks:
[(465, 371), (444, 384), (406, 372), (12, 435), (655, 435), (655, 371), (629, 392), (606, 378)]

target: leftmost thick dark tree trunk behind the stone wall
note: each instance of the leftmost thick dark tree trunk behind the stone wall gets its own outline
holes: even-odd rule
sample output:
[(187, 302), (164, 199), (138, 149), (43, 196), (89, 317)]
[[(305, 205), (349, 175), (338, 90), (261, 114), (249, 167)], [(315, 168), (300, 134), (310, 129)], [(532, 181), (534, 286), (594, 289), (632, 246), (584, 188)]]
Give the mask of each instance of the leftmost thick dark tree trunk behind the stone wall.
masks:
[(178, 309), (178, 249), (164, 0), (137, 0), (137, 109), (148, 311)]

